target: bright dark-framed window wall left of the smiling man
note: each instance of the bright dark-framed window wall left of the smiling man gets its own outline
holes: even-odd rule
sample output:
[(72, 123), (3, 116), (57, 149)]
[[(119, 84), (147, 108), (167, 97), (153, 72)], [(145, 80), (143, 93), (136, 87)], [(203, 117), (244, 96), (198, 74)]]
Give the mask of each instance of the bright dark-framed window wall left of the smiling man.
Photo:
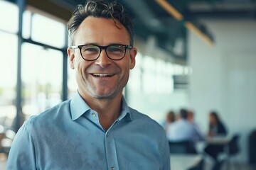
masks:
[[(36, 9), (24, 11), (21, 37), (17, 35), (18, 15), (16, 4), (0, 0), (0, 125), (7, 127), (18, 126), (14, 124), (17, 108), (22, 107), (23, 121), (60, 103), (66, 83), (63, 82), (65, 24), (36, 13)], [(25, 41), (21, 45), (21, 62), (18, 62), (18, 38)], [(20, 75), (21, 82), (17, 79)], [(16, 91), (16, 84), (21, 84), (21, 94), (17, 94), (20, 91)]]

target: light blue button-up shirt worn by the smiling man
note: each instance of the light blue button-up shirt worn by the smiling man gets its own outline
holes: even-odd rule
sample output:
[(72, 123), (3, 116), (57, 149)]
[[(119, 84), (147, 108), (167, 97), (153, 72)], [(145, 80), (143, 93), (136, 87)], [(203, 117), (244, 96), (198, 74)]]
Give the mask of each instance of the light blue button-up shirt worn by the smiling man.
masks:
[(7, 169), (169, 170), (163, 128), (127, 106), (105, 131), (96, 111), (76, 94), (36, 115), (14, 139)]

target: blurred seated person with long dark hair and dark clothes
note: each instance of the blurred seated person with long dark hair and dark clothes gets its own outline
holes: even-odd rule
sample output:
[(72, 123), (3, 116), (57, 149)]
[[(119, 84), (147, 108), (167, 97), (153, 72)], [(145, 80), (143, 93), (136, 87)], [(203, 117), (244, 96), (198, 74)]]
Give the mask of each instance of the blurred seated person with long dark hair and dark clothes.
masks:
[[(211, 111), (209, 114), (209, 130), (208, 130), (208, 137), (216, 137), (216, 136), (225, 136), (227, 135), (228, 131), (225, 128), (225, 125), (220, 120), (218, 113), (215, 111)], [(214, 145), (210, 144), (206, 146), (204, 149), (206, 154), (210, 155), (215, 161), (215, 166), (219, 164), (218, 155), (221, 152), (224, 152), (223, 145)], [(213, 167), (213, 169), (216, 169)], [(220, 168), (219, 168), (220, 169)]]

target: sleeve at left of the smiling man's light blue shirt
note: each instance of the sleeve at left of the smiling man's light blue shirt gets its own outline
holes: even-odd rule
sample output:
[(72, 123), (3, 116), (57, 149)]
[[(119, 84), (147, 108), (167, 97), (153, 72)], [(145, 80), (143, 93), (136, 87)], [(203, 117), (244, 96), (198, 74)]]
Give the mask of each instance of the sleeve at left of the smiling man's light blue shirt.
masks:
[(26, 121), (18, 130), (11, 145), (7, 169), (36, 169), (35, 147), (31, 136), (31, 123)]

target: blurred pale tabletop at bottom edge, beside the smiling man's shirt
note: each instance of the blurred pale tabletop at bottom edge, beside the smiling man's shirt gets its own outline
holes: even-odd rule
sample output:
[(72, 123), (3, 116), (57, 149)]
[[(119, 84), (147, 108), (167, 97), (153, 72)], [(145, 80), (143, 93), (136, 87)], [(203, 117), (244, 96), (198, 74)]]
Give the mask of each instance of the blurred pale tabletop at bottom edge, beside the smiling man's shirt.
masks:
[(201, 163), (201, 154), (171, 154), (171, 169), (188, 170)]

